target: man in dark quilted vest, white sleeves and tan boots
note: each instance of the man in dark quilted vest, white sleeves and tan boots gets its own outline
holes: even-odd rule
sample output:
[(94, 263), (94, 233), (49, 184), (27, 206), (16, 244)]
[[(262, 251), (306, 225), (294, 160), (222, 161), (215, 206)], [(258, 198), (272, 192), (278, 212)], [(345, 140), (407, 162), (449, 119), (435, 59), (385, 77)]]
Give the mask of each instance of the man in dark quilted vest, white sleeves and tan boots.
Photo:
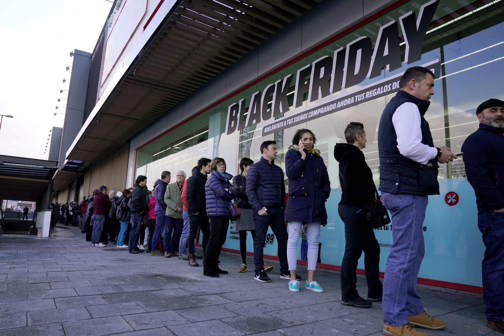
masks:
[(380, 190), (392, 215), (393, 243), (383, 283), (383, 333), (426, 336), (414, 326), (443, 329), (443, 320), (430, 317), (416, 293), (418, 271), (425, 253), (423, 220), (427, 195), (439, 194), (439, 163), (457, 156), (448, 147), (434, 147), (424, 118), (434, 94), (434, 74), (421, 66), (406, 70), (399, 92), (385, 107), (378, 130)]

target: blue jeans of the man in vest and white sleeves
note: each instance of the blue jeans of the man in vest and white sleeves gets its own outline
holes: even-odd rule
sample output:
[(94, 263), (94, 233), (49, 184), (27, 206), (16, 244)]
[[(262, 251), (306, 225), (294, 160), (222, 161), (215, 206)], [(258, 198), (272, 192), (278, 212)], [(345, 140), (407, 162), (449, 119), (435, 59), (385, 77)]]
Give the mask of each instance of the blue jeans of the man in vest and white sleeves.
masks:
[(396, 326), (425, 311), (416, 293), (416, 281), (425, 254), (423, 220), (428, 199), (382, 192), (382, 201), (392, 215), (393, 239), (383, 281), (383, 320)]

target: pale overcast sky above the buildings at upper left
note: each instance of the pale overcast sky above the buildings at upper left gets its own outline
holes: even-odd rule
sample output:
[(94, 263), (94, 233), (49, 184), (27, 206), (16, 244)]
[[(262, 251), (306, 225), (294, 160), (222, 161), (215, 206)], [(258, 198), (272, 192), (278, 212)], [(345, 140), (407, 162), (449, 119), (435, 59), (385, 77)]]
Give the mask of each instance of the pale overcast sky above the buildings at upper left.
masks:
[[(92, 52), (112, 6), (105, 0), (0, 1), (0, 155), (47, 159), (49, 129), (62, 127), (70, 51)], [(50, 141), (49, 141), (50, 144)]]

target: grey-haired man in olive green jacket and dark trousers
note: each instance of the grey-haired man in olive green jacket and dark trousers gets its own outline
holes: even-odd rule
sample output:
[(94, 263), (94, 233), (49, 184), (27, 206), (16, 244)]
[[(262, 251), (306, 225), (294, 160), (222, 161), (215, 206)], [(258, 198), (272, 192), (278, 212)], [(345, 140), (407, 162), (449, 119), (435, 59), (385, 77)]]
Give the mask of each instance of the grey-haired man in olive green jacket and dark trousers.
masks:
[[(182, 185), (185, 180), (185, 173), (177, 171), (177, 183), (171, 183), (164, 193), (164, 203), (166, 203), (166, 226), (164, 230), (164, 257), (178, 256), (178, 243), (184, 221), (182, 219)], [(173, 236), (171, 235), (173, 231)]]

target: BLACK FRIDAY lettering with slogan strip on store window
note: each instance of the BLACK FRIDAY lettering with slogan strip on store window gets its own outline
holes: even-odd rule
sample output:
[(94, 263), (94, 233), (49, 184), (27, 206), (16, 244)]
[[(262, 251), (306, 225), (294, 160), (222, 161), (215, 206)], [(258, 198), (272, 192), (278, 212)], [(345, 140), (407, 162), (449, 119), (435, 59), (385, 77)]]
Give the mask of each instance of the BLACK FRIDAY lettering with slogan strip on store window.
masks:
[[(372, 49), (372, 40), (367, 36), (361, 36), (345, 47), (334, 51), (334, 57), (323, 56), (297, 70), (293, 105), (289, 105), (287, 97), (292, 84), (292, 74), (285, 76), (283, 80), (269, 84), (263, 92), (253, 93), (250, 97), (246, 119), (246, 99), (241, 99), (238, 103), (229, 105), (226, 134), (229, 135), (236, 130), (268, 120), (273, 116), (289, 111), (291, 108), (300, 107), (303, 104), (304, 94), (307, 94), (308, 102), (313, 102), (330, 94), (335, 94), (341, 91), (342, 88), (357, 85), (366, 78), (371, 79), (380, 76), (384, 67), (388, 71), (401, 68), (399, 24), (406, 45), (404, 62), (409, 64), (419, 60), (422, 54), (422, 41), (438, 3), (439, 0), (432, 0), (421, 6), (418, 18), (416, 18), (415, 12), (409, 12), (399, 18), (399, 23), (393, 20), (380, 27), (374, 50)], [(307, 83), (307, 78), (310, 79), (309, 83)], [(383, 96), (393, 93), (394, 90), (399, 90), (399, 88), (394, 88), (392, 79), (387, 79), (387, 81), (390, 83), (375, 83), (380, 86), (376, 87), (375, 91), (372, 89), (371, 92), (359, 92), (358, 95), (355, 92), (352, 96), (346, 95), (344, 101), (340, 101), (341, 97), (338, 97), (331, 104), (328, 103), (327, 106), (319, 106), (314, 112), (310, 108), (307, 113), (312, 112), (312, 117), (319, 117), (328, 112), (338, 111), (338, 106), (340, 106), (339, 109), (348, 108), (352, 106), (351, 104), (360, 104), (376, 99), (380, 95)], [(395, 82), (397, 81), (398, 79), (395, 80)], [(268, 106), (270, 105), (270, 96), (273, 96), (271, 107)], [(334, 105), (335, 102), (336, 105)], [(344, 105), (341, 106), (341, 104)], [(281, 128), (293, 126), (296, 122), (305, 122), (308, 120), (308, 116), (306, 115), (306, 118), (304, 118), (304, 113), (297, 115), (298, 118), (303, 119), (296, 119), (296, 121), (292, 119), (290, 123), (285, 123), (283, 126), (276, 125), (277, 127), (271, 130), (277, 131)], [(289, 116), (289, 118), (291, 117)], [(275, 120), (275, 123), (277, 121), (279, 120)], [(262, 135), (266, 134), (268, 133), (262, 133)]]

